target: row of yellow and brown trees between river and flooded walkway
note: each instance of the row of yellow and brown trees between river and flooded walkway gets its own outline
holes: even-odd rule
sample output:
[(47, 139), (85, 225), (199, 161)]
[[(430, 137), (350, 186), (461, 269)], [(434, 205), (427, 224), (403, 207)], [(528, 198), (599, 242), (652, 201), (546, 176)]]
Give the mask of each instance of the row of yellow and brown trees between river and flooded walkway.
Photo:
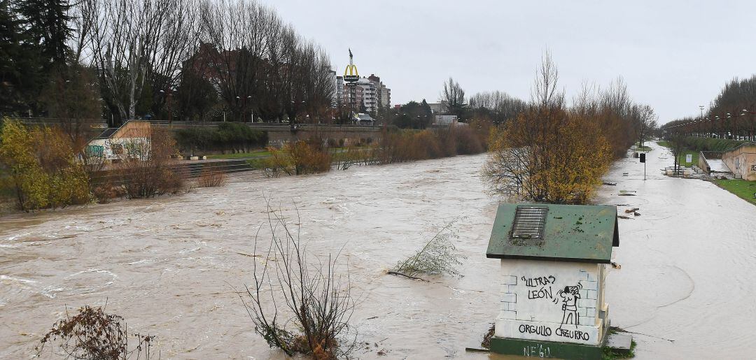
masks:
[(544, 57), (531, 100), (494, 128), (484, 178), (491, 192), (533, 202), (584, 204), (612, 160), (642, 142), (653, 109), (634, 103), (621, 79), (601, 90), (584, 86), (569, 106), (559, 72)]

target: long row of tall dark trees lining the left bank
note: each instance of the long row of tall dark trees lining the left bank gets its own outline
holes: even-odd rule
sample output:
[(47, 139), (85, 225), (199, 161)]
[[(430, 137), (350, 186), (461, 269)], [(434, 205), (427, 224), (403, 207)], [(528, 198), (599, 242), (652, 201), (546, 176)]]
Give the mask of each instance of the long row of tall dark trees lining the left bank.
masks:
[(318, 118), (336, 90), (327, 54), (255, 0), (0, 0), (0, 39), (6, 115)]

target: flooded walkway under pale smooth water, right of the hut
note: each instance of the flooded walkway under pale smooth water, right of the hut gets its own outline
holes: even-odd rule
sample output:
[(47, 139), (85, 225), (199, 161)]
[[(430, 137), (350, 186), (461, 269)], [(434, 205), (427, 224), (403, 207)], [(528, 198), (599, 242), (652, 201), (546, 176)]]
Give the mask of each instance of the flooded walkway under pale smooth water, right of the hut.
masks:
[(641, 214), (619, 219), (622, 268), (609, 270), (606, 288), (612, 325), (637, 333), (637, 359), (752, 358), (756, 206), (708, 181), (662, 175), (656, 169), (674, 157), (652, 147), (647, 180), (637, 158), (621, 159), (605, 177), (617, 186), (596, 199)]

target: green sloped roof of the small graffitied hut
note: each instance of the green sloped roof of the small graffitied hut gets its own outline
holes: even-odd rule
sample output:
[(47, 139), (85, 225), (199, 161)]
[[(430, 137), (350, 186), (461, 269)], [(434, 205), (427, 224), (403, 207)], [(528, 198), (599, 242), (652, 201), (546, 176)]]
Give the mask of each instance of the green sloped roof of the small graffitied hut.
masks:
[(486, 257), (610, 263), (613, 246), (619, 246), (615, 206), (502, 204)]

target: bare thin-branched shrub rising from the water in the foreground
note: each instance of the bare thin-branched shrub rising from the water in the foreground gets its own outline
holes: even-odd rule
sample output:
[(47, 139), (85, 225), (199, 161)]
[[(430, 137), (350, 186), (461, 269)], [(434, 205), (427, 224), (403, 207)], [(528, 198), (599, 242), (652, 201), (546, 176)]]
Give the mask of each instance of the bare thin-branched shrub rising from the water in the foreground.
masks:
[[(254, 263), (254, 284), (240, 293), (255, 331), (269, 346), (290, 356), (296, 352), (312, 354), (317, 359), (348, 355), (356, 335), (352, 340), (339, 337), (349, 331), (355, 309), (349, 272), (339, 275), (339, 254), (311, 262), (299, 229), (290, 229), (280, 211), (269, 206), (268, 210), (271, 241), (261, 246), (261, 226), (253, 248), (261, 259)], [(279, 307), (282, 302), (284, 309)]]

